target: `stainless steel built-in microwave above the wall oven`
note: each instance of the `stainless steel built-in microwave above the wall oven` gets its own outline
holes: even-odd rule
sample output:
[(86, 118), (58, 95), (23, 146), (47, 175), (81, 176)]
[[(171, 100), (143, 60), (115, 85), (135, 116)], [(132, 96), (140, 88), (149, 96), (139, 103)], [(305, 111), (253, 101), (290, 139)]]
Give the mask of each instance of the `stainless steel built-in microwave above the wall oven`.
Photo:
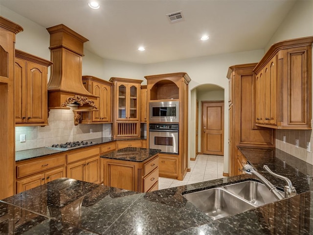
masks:
[(179, 122), (179, 101), (149, 102), (150, 122)]

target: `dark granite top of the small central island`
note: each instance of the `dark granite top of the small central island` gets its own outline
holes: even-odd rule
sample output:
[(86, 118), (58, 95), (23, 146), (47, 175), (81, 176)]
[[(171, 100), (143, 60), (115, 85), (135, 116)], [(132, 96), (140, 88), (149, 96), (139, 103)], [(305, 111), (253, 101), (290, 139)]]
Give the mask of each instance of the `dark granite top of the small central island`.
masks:
[(103, 154), (100, 156), (100, 158), (143, 162), (155, 156), (159, 152), (161, 152), (160, 149), (126, 147)]

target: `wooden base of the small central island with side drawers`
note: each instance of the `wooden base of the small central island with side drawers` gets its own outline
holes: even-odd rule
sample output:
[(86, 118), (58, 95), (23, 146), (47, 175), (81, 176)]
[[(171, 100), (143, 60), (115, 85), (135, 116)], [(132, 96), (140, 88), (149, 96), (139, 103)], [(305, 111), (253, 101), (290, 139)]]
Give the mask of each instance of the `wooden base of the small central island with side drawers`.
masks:
[(104, 185), (138, 192), (158, 189), (158, 155), (142, 163), (102, 158)]

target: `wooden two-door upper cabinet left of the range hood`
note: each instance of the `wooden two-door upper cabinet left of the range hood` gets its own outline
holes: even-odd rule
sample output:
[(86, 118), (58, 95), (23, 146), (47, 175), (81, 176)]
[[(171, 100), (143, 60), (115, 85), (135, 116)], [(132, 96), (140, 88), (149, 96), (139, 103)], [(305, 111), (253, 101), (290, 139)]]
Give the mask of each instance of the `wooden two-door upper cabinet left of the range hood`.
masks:
[(15, 122), (17, 126), (47, 125), (47, 75), (51, 61), (15, 50)]

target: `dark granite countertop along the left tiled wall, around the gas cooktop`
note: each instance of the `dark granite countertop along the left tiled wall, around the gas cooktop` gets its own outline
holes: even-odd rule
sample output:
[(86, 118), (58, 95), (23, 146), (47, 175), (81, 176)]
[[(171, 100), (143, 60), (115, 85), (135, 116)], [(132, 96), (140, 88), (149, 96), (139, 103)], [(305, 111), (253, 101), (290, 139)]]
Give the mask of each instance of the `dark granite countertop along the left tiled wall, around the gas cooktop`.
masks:
[[(146, 139), (147, 139), (146, 136), (142, 136), (140, 138), (131, 139), (131, 140), (146, 140)], [(118, 139), (118, 140), (119, 141), (126, 141), (126, 140), (130, 140), (130, 139)], [(108, 142), (112, 142), (112, 141), (116, 141), (116, 140), (114, 140), (113, 138), (107, 137), (107, 138), (96, 138), (96, 139), (83, 140), (83, 141), (94, 142), (96, 144), (94, 144), (92, 146), (96, 146), (97, 144), (108, 143)], [(82, 145), (79, 148), (86, 148), (89, 146)], [(79, 148), (76, 148), (76, 149), (79, 149)], [(55, 149), (49, 149), (49, 148), (41, 147), (41, 148), (33, 148), (33, 149), (27, 149), (27, 150), (22, 150), (22, 151), (16, 151), (15, 152), (15, 161), (19, 162), (22, 160), (27, 160), (27, 159), (31, 159), (31, 158), (39, 158), (39, 157), (43, 157), (43, 156), (47, 156), (47, 155), (51, 155), (51, 154), (55, 154), (55, 153), (65, 152), (65, 151), (71, 151), (71, 150), (55, 150)]]

